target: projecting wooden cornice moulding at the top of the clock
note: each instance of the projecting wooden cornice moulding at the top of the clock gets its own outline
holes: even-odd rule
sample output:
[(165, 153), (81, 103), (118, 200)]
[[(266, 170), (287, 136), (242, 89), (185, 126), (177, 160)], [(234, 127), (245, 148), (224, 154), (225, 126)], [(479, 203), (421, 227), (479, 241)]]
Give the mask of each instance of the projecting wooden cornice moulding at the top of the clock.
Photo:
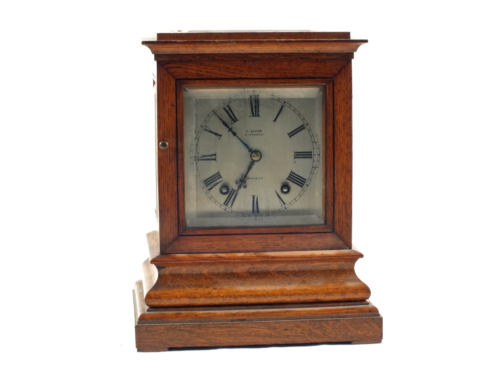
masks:
[(367, 43), (349, 32), (173, 32), (143, 40), (154, 54), (169, 53), (325, 53), (356, 52)]

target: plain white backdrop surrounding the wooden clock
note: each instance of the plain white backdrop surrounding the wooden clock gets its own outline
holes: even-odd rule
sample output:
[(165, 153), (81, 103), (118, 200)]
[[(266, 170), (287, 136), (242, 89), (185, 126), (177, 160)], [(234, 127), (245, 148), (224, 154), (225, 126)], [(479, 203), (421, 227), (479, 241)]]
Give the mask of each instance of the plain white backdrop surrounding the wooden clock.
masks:
[[(494, 1), (11, 1), (0, 12), (4, 373), (495, 373)], [(353, 242), (383, 342), (137, 353), (154, 221), (153, 55), (173, 29), (367, 38), (353, 61)]]

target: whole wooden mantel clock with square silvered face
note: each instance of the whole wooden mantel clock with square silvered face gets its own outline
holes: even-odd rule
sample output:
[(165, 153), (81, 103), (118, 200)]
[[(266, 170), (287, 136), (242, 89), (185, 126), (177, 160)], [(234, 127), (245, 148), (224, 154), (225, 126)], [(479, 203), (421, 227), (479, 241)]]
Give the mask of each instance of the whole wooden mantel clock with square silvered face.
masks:
[[(375, 343), (351, 243), (349, 32), (172, 32), (156, 60), (158, 230), (136, 346)], [(221, 324), (224, 323), (224, 324)]]

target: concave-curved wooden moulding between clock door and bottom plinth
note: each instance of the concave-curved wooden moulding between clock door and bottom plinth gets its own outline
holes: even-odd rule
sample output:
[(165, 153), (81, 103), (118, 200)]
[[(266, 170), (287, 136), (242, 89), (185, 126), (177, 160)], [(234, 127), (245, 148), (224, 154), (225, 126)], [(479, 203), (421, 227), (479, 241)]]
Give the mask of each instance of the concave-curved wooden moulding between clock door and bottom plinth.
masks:
[(362, 301), (355, 250), (161, 254), (150, 307)]

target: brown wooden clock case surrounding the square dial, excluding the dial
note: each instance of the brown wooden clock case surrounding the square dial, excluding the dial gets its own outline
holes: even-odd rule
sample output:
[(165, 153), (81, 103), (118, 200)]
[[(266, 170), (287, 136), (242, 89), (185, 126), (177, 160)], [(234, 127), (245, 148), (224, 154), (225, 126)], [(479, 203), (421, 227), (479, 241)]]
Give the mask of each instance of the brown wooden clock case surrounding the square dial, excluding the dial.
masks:
[[(179, 32), (145, 40), (157, 62), (159, 231), (136, 282), (138, 351), (376, 343), (382, 317), (351, 243), (349, 32)], [(325, 86), (325, 225), (187, 228), (183, 86)]]

